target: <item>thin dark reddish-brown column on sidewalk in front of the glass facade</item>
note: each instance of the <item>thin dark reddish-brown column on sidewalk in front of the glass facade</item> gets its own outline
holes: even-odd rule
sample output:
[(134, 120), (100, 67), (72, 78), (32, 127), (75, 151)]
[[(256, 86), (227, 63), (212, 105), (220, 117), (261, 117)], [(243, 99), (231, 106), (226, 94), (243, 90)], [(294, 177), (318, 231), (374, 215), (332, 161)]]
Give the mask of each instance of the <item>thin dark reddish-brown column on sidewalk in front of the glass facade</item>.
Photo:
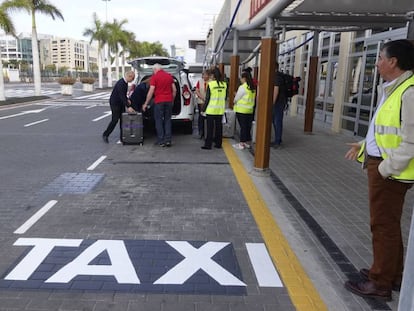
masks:
[(318, 56), (311, 56), (309, 62), (308, 91), (306, 93), (305, 133), (312, 133), (315, 111), (316, 80), (318, 75)]

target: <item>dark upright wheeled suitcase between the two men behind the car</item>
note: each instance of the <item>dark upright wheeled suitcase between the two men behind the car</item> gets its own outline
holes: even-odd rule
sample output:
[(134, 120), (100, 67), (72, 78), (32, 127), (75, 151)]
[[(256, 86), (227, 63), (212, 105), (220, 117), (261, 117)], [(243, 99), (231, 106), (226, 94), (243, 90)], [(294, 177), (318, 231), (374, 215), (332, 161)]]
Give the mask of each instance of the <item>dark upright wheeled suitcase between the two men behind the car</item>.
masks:
[(142, 122), (142, 113), (125, 112), (122, 114), (122, 144), (144, 144), (144, 124)]

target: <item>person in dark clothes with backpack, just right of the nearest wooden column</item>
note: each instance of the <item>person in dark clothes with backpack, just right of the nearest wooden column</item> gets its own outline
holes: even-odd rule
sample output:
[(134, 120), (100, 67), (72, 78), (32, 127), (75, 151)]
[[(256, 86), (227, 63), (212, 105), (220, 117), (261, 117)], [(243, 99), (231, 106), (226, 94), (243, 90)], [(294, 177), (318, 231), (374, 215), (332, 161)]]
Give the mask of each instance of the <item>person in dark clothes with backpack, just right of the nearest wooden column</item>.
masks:
[(283, 116), (288, 102), (286, 89), (285, 74), (279, 71), (279, 63), (276, 62), (272, 110), (272, 123), (275, 131), (275, 140), (272, 143), (272, 147), (274, 148), (280, 148), (282, 144)]

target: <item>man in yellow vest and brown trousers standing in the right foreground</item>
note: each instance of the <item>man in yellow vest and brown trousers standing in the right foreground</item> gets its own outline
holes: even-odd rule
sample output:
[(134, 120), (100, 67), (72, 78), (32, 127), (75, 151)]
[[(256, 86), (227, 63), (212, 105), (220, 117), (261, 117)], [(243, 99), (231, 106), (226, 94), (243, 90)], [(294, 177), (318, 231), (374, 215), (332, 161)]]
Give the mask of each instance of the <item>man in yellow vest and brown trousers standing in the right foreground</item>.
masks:
[(373, 263), (345, 288), (362, 297), (392, 299), (403, 273), (401, 215), (414, 183), (414, 45), (386, 42), (376, 63), (384, 83), (364, 141), (350, 144), (345, 158), (367, 169)]

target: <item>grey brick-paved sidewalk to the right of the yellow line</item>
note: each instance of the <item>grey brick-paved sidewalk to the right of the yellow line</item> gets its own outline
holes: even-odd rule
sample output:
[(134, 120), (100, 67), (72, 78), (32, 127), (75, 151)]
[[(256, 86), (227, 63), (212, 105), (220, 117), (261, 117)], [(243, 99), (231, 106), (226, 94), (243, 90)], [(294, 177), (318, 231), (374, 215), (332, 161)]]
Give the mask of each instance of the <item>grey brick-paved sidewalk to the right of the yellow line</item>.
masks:
[[(343, 289), (344, 281), (369, 267), (372, 258), (366, 174), (358, 163), (344, 159), (346, 143), (359, 138), (335, 134), (318, 123), (309, 135), (303, 125), (302, 118), (287, 117), (283, 148), (271, 149), (271, 178), (281, 197), (276, 219), (283, 213), (289, 224), (280, 226), (305, 239), (301, 244), (292, 238), (291, 246), (330, 310), (397, 310), (397, 292), (384, 304)], [(405, 246), (413, 204), (414, 192), (409, 191), (402, 217)]]

